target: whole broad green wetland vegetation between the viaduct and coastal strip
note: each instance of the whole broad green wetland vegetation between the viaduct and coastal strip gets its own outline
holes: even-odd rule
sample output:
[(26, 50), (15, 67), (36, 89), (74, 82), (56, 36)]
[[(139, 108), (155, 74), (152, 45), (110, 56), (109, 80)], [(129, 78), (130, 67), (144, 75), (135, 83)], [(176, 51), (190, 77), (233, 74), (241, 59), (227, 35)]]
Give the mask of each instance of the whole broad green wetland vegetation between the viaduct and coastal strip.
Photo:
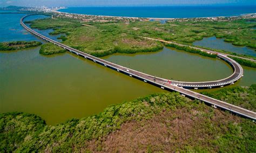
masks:
[[(251, 28), (256, 23), (248, 23), (245, 19), (230, 22), (117, 22), (117, 23), (83, 23), (95, 27), (83, 26), (75, 19), (39, 19), (30, 22), (31, 27), (38, 29), (53, 28), (50, 34), (65, 33), (66, 45), (79, 48), (86, 53), (102, 57), (112, 53), (136, 53), (147, 51), (158, 51), (163, 47), (160, 43), (145, 40), (138, 36), (171, 40), (181, 44), (192, 45), (193, 41), (204, 37), (215, 36), (225, 38), (237, 46), (248, 46), (255, 48), (256, 32)], [(76, 41), (78, 40), (78, 41)], [(225, 52), (234, 55), (235, 53)], [(201, 53), (206, 55), (206, 53)], [(252, 58), (248, 55), (235, 54), (241, 57)], [(210, 55), (210, 57), (214, 55)]]

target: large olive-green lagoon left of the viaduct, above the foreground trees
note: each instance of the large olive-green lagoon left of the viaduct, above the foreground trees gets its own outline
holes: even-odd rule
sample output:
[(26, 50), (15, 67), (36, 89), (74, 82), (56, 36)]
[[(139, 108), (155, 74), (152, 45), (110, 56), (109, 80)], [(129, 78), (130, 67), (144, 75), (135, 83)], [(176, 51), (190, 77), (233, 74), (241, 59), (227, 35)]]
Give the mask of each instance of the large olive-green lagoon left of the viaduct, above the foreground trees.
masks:
[(33, 113), (56, 124), (163, 92), (73, 54), (44, 57), (38, 49), (1, 53), (1, 113)]

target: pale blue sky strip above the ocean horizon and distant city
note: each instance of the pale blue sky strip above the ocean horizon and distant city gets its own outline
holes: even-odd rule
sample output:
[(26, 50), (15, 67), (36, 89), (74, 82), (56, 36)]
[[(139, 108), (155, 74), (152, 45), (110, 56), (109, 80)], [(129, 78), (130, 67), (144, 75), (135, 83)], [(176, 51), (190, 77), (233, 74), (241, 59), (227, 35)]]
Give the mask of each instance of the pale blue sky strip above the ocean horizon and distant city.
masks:
[(171, 6), (256, 5), (256, 0), (0, 0), (0, 7), (16, 6)]

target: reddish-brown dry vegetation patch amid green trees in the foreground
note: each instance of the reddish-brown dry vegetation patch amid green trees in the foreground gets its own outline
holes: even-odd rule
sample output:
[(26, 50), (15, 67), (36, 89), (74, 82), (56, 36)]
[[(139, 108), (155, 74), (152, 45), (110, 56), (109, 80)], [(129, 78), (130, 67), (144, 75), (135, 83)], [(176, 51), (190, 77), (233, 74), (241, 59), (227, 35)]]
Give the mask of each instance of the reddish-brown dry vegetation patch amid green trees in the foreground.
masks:
[[(210, 118), (207, 115), (211, 115), (208, 116)], [(208, 151), (217, 151), (218, 147), (214, 147), (212, 140), (226, 133), (230, 121), (240, 122), (240, 118), (212, 108), (181, 108), (162, 112), (150, 120), (125, 123), (120, 130), (103, 140), (91, 141), (87, 149), (103, 152), (173, 152), (193, 150), (195, 147), (208, 150), (205, 148), (210, 147), (214, 149)]]

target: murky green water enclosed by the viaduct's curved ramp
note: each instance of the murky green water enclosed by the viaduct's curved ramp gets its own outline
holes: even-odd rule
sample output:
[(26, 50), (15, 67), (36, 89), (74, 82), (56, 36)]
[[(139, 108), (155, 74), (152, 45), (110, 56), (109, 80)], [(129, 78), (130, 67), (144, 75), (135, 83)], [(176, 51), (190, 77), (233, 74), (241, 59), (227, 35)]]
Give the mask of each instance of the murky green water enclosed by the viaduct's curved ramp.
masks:
[(173, 48), (154, 53), (114, 54), (105, 59), (156, 77), (179, 81), (219, 80), (233, 73), (223, 60)]

